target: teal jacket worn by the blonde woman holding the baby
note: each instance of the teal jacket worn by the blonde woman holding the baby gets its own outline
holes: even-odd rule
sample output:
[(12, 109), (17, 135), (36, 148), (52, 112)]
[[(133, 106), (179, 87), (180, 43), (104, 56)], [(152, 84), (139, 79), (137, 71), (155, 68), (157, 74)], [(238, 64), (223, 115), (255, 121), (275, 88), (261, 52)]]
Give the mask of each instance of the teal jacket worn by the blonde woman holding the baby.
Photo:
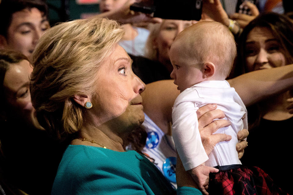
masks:
[[(136, 151), (117, 152), (101, 147), (69, 145), (63, 154), (52, 195), (175, 194), (162, 173)], [(201, 195), (191, 187), (177, 195)]]

